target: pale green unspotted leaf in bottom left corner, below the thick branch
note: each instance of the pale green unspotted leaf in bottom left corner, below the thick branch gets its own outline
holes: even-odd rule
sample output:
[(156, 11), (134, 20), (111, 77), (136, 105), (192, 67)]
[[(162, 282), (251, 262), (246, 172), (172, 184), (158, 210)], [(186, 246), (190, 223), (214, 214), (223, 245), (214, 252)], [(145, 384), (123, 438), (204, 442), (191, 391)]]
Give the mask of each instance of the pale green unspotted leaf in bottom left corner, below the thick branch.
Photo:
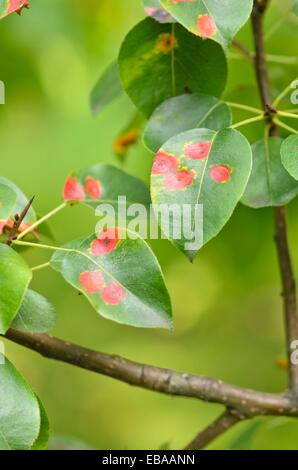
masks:
[(0, 365), (0, 449), (29, 450), (40, 429), (38, 401), (5, 358)]

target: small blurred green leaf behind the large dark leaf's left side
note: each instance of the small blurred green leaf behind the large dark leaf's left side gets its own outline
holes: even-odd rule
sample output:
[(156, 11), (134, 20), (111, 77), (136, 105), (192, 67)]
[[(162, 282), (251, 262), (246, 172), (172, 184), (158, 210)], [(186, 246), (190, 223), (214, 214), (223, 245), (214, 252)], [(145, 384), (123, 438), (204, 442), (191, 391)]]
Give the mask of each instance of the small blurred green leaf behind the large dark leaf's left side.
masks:
[(119, 78), (118, 64), (113, 62), (100, 77), (90, 96), (90, 105), (94, 114), (101, 112), (123, 92)]

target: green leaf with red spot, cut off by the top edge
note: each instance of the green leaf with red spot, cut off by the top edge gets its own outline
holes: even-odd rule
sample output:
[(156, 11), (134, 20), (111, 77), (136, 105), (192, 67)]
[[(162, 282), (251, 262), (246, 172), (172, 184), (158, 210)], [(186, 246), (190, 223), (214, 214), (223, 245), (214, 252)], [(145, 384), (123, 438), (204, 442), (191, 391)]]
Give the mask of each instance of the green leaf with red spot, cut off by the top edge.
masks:
[(161, 4), (193, 34), (228, 47), (249, 19), (253, 0), (161, 0)]

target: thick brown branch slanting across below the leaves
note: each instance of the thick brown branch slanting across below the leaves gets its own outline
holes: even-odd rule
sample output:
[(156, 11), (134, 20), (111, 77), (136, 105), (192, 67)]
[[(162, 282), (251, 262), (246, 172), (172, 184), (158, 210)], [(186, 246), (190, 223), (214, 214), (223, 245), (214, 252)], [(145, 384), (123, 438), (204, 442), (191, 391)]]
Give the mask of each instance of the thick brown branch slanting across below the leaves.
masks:
[(139, 364), (44, 334), (11, 329), (5, 337), (49, 359), (72, 364), (147, 390), (220, 403), (243, 416), (298, 416), (298, 398), (290, 394), (256, 392), (210, 377)]

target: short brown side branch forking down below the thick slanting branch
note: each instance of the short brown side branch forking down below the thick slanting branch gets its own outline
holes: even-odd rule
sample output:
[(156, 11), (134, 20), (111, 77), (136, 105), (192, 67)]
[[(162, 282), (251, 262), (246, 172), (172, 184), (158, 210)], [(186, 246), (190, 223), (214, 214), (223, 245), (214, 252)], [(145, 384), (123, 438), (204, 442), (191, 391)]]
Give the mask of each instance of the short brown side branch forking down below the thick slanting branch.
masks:
[(201, 450), (204, 449), (210, 442), (214, 441), (221, 434), (225, 433), (228, 429), (235, 426), (245, 419), (244, 416), (239, 415), (234, 410), (227, 409), (219, 418), (217, 418), (210, 426), (208, 426), (203, 431), (191, 441), (184, 450)]

